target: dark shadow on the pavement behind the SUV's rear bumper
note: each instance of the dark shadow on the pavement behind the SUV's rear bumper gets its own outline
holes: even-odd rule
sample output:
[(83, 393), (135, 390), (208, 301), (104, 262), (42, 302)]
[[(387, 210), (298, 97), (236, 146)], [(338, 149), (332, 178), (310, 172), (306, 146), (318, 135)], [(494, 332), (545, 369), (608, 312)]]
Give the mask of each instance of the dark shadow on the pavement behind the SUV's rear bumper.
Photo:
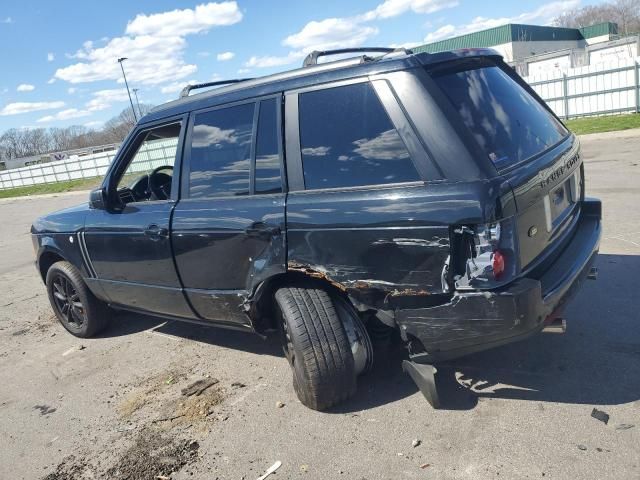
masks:
[[(616, 405), (640, 400), (640, 256), (598, 257), (598, 280), (586, 281), (565, 312), (564, 335), (531, 339), (439, 366), (443, 408), (478, 399)], [(456, 398), (460, 390), (466, 391)]]

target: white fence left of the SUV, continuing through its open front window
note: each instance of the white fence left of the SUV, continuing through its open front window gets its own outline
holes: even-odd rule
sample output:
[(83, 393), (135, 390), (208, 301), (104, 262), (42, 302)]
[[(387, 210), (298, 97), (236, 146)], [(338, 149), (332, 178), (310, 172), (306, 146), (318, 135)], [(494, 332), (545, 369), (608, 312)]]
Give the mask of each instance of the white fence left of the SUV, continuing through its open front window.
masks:
[[(127, 173), (146, 172), (162, 165), (173, 165), (177, 139), (157, 140), (145, 144), (129, 166)], [(0, 190), (43, 183), (57, 183), (103, 176), (117, 150), (68, 158), (56, 162), (0, 172)]]

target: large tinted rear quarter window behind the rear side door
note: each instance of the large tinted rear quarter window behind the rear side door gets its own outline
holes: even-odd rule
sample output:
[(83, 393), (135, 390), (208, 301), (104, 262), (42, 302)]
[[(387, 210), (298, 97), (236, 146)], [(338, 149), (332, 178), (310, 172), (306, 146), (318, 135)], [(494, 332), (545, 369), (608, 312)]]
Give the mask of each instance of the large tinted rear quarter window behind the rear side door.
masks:
[(371, 84), (303, 93), (299, 111), (306, 188), (420, 180)]

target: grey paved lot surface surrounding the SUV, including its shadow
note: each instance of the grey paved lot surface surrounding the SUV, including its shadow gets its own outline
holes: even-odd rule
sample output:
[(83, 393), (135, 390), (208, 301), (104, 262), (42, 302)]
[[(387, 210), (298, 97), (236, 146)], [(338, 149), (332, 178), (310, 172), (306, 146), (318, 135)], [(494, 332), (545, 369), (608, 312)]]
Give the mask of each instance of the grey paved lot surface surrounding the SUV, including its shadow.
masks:
[[(28, 230), (86, 193), (0, 201), (0, 478), (251, 480), (276, 461), (287, 479), (640, 478), (640, 131), (582, 145), (604, 201), (598, 281), (566, 335), (442, 366), (438, 411), (399, 347), (318, 413), (275, 338), (118, 314), (80, 341), (53, 317)], [(182, 393), (198, 380), (210, 386)]]

